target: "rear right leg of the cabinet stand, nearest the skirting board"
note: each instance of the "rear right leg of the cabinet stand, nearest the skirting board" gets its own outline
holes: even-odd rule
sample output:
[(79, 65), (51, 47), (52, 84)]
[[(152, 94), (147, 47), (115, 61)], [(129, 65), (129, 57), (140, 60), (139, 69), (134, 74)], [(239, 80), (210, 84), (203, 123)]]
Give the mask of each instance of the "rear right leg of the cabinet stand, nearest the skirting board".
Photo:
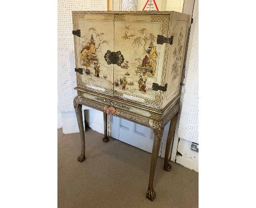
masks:
[(170, 129), (168, 132), (168, 137), (166, 141), (166, 148), (165, 148), (165, 163), (164, 163), (164, 170), (170, 171), (171, 170), (171, 164), (168, 163), (168, 157), (169, 157), (169, 152), (171, 148), (171, 143), (172, 143), (172, 138), (174, 137), (174, 131), (177, 123), (177, 118), (178, 118), (178, 113), (174, 115), (174, 117), (171, 120), (170, 124)]

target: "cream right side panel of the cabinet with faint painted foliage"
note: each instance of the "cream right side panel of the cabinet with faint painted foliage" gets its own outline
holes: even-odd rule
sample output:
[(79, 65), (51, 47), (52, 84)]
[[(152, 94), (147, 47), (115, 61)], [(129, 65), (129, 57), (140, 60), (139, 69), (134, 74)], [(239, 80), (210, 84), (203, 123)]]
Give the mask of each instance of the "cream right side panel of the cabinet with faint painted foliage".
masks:
[(163, 95), (162, 108), (180, 93), (189, 22), (189, 15), (174, 13), (171, 21), (173, 44), (170, 46), (165, 76), (165, 83), (168, 87)]

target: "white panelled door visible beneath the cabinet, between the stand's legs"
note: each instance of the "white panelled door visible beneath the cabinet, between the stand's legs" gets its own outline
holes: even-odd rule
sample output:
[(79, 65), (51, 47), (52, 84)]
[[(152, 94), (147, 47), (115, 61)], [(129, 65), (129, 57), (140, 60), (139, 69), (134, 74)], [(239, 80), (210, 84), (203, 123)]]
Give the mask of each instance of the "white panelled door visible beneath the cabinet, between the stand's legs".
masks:
[[(113, 117), (109, 117), (109, 136), (118, 139), (122, 142), (136, 146), (136, 148), (152, 152), (154, 142), (154, 132), (152, 129), (135, 124), (131, 121)], [(159, 156), (165, 156), (165, 145), (168, 135), (170, 122), (165, 126), (164, 134), (162, 136), (162, 144), (160, 146)]]

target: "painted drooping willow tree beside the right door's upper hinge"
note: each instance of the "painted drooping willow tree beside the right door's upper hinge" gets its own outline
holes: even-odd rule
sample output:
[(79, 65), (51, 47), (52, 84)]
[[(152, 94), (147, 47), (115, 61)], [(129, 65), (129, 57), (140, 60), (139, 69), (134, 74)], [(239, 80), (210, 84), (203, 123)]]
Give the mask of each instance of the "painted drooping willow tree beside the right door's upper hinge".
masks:
[(133, 39), (132, 46), (143, 46), (144, 50), (148, 52), (146, 45), (148, 43), (153, 44), (153, 42), (156, 41), (156, 36), (153, 33), (148, 33), (148, 30), (146, 28), (142, 28), (141, 30), (138, 30), (138, 32), (139, 35), (137, 35), (137, 37)]

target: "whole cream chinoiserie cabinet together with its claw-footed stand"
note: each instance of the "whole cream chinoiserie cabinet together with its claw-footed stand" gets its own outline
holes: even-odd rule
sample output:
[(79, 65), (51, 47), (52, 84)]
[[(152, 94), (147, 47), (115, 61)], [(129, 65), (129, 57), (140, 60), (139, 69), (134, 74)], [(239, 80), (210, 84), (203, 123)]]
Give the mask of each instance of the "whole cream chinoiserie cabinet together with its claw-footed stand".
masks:
[(190, 16), (174, 11), (73, 11), (74, 98), (85, 160), (82, 105), (153, 129), (154, 143), (146, 197), (154, 200), (153, 179), (165, 125), (171, 120), (164, 170), (179, 112)]

